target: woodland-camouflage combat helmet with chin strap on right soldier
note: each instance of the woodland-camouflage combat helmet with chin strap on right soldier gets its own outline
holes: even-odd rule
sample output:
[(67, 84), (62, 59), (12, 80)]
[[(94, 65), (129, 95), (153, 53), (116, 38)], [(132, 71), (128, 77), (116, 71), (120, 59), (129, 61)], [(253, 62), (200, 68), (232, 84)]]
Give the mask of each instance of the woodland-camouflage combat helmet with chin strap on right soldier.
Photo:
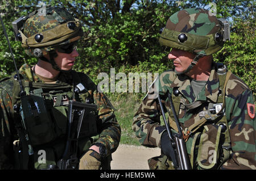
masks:
[(217, 19), (204, 9), (184, 9), (171, 15), (160, 31), (159, 43), (195, 53), (196, 57), (183, 73), (196, 65), (200, 57), (218, 52), (229, 40), (229, 23)]

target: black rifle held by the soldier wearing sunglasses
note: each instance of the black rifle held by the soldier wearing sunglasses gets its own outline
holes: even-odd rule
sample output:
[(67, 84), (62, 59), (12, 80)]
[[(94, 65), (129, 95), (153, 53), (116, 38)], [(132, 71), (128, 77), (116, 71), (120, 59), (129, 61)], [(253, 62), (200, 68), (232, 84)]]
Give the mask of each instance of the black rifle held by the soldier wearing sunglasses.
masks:
[[(77, 169), (79, 165), (79, 158), (77, 158), (77, 145), (78, 138), (80, 135), (80, 129), (82, 122), (92, 124), (90, 122), (90, 114), (97, 110), (96, 104), (86, 104), (80, 103), (75, 100), (69, 100), (68, 104), (68, 136), (67, 143), (65, 145), (65, 150), (63, 157), (57, 162), (57, 167), (60, 170)], [(96, 122), (95, 122), (96, 123)], [(96, 128), (96, 125), (89, 125)], [(86, 134), (86, 133), (85, 133)], [(97, 128), (87, 135), (97, 134)], [(52, 165), (48, 166), (49, 168)]]

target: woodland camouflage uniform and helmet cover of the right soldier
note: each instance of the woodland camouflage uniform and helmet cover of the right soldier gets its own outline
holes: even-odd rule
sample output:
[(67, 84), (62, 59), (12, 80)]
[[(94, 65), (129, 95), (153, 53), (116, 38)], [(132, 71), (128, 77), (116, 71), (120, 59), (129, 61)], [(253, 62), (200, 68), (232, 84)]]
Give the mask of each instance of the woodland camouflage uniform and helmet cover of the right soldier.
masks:
[[(168, 19), (169, 23), (167, 22), (166, 28), (175, 27), (177, 31), (185, 32), (187, 35), (195, 34), (197, 30), (195, 26), (204, 26), (204, 23), (178, 27), (177, 22), (184, 16), (188, 18), (185, 22), (189, 22), (189, 16), (194, 18), (191, 23), (194, 20), (198, 22), (200, 20), (195, 17), (207, 15), (199, 14), (203, 11), (201, 9), (179, 11)], [(177, 22), (173, 23), (173, 17), (176, 17)], [(211, 19), (209, 24), (210, 22), (212, 22)], [(194, 32), (189, 32), (188, 29)], [(212, 54), (212, 52), (209, 53), (212, 49), (199, 49), (198, 46), (192, 49), (183, 46), (184, 44), (177, 42), (177, 39), (171, 40), (171, 37), (167, 39), (167, 36), (164, 37), (165, 35), (166, 33), (161, 34), (160, 37), (160, 43), (162, 41), (164, 45), (193, 53)], [(212, 47), (214, 46), (212, 45)], [(220, 49), (218, 45), (214, 48)], [(164, 71), (160, 74), (133, 119), (132, 127), (139, 142), (148, 147), (158, 146), (160, 148), (161, 146), (161, 136), (166, 131), (166, 127), (160, 125), (162, 113), (157, 100), (158, 92), (166, 109), (171, 131), (177, 132), (168, 99), (169, 92), (179, 118), (193, 169), (256, 169), (256, 124), (253, 95), (240, 78), (230, 72), (227, 73), (226, 69), (220, 69), (220, 67), (222, 65), (212, 63), (209, 79), (197, 96), (193, 92), (191, 78), (187, 75), (176, 74), (174, 70)], [(214, 104), (220, 103), (225, 105), (223, 106), (224, 110), (216, 115)], [(191, 107), (196, 104), (197, 106)], [(212, 113), (212, 110), (215, 113)], [(228, 126), (221, 130), (223, 125)], [(148, 164), (150, 169), (174, 169), (172, 162), (163, 153), (159, 157), (149, 159)]]

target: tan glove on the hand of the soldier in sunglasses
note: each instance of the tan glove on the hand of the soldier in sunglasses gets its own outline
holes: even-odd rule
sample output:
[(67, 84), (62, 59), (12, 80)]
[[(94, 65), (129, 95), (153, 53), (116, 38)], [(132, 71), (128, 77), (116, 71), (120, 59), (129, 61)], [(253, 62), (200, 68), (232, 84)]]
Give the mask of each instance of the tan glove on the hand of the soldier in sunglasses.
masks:
[(99, 170), (101, 155), (94, 150), (88, 150), (80, 159), (79, 170)]

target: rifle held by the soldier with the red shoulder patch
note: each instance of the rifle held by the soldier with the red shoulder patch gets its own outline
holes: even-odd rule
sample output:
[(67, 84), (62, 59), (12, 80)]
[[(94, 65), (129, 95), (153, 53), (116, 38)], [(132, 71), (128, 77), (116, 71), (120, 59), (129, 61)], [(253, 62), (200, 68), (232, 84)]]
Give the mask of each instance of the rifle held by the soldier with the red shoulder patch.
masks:
[(174, 163), (174, 167), (176, 170), (191, 170), (191, 163), (188, 159), (187, 148), (186, 148), (185, 141), (183, 139), (183, 135), (180, 129), (179, 119), (177, 118), (176, 111), (174, 108), (174, 103), (172, 102), (172, 98), (169, 92), (168, 92), (168, 98), (170, 100), (171, 110), (172, 110), (172, 113), (174, 114), (175, 123), (179, 131), (177, 134), (173, 134), (170, 131), (169, 124), (167, 123), (166, 116), (164, 115), (163, 104), (158, 94), (158, 102), (163, 115), (164, 124), (166, 125), (167, 133), (172, 145), (171, 154), (170, 154), (171, 159), (172, 159), (172, 162)]

